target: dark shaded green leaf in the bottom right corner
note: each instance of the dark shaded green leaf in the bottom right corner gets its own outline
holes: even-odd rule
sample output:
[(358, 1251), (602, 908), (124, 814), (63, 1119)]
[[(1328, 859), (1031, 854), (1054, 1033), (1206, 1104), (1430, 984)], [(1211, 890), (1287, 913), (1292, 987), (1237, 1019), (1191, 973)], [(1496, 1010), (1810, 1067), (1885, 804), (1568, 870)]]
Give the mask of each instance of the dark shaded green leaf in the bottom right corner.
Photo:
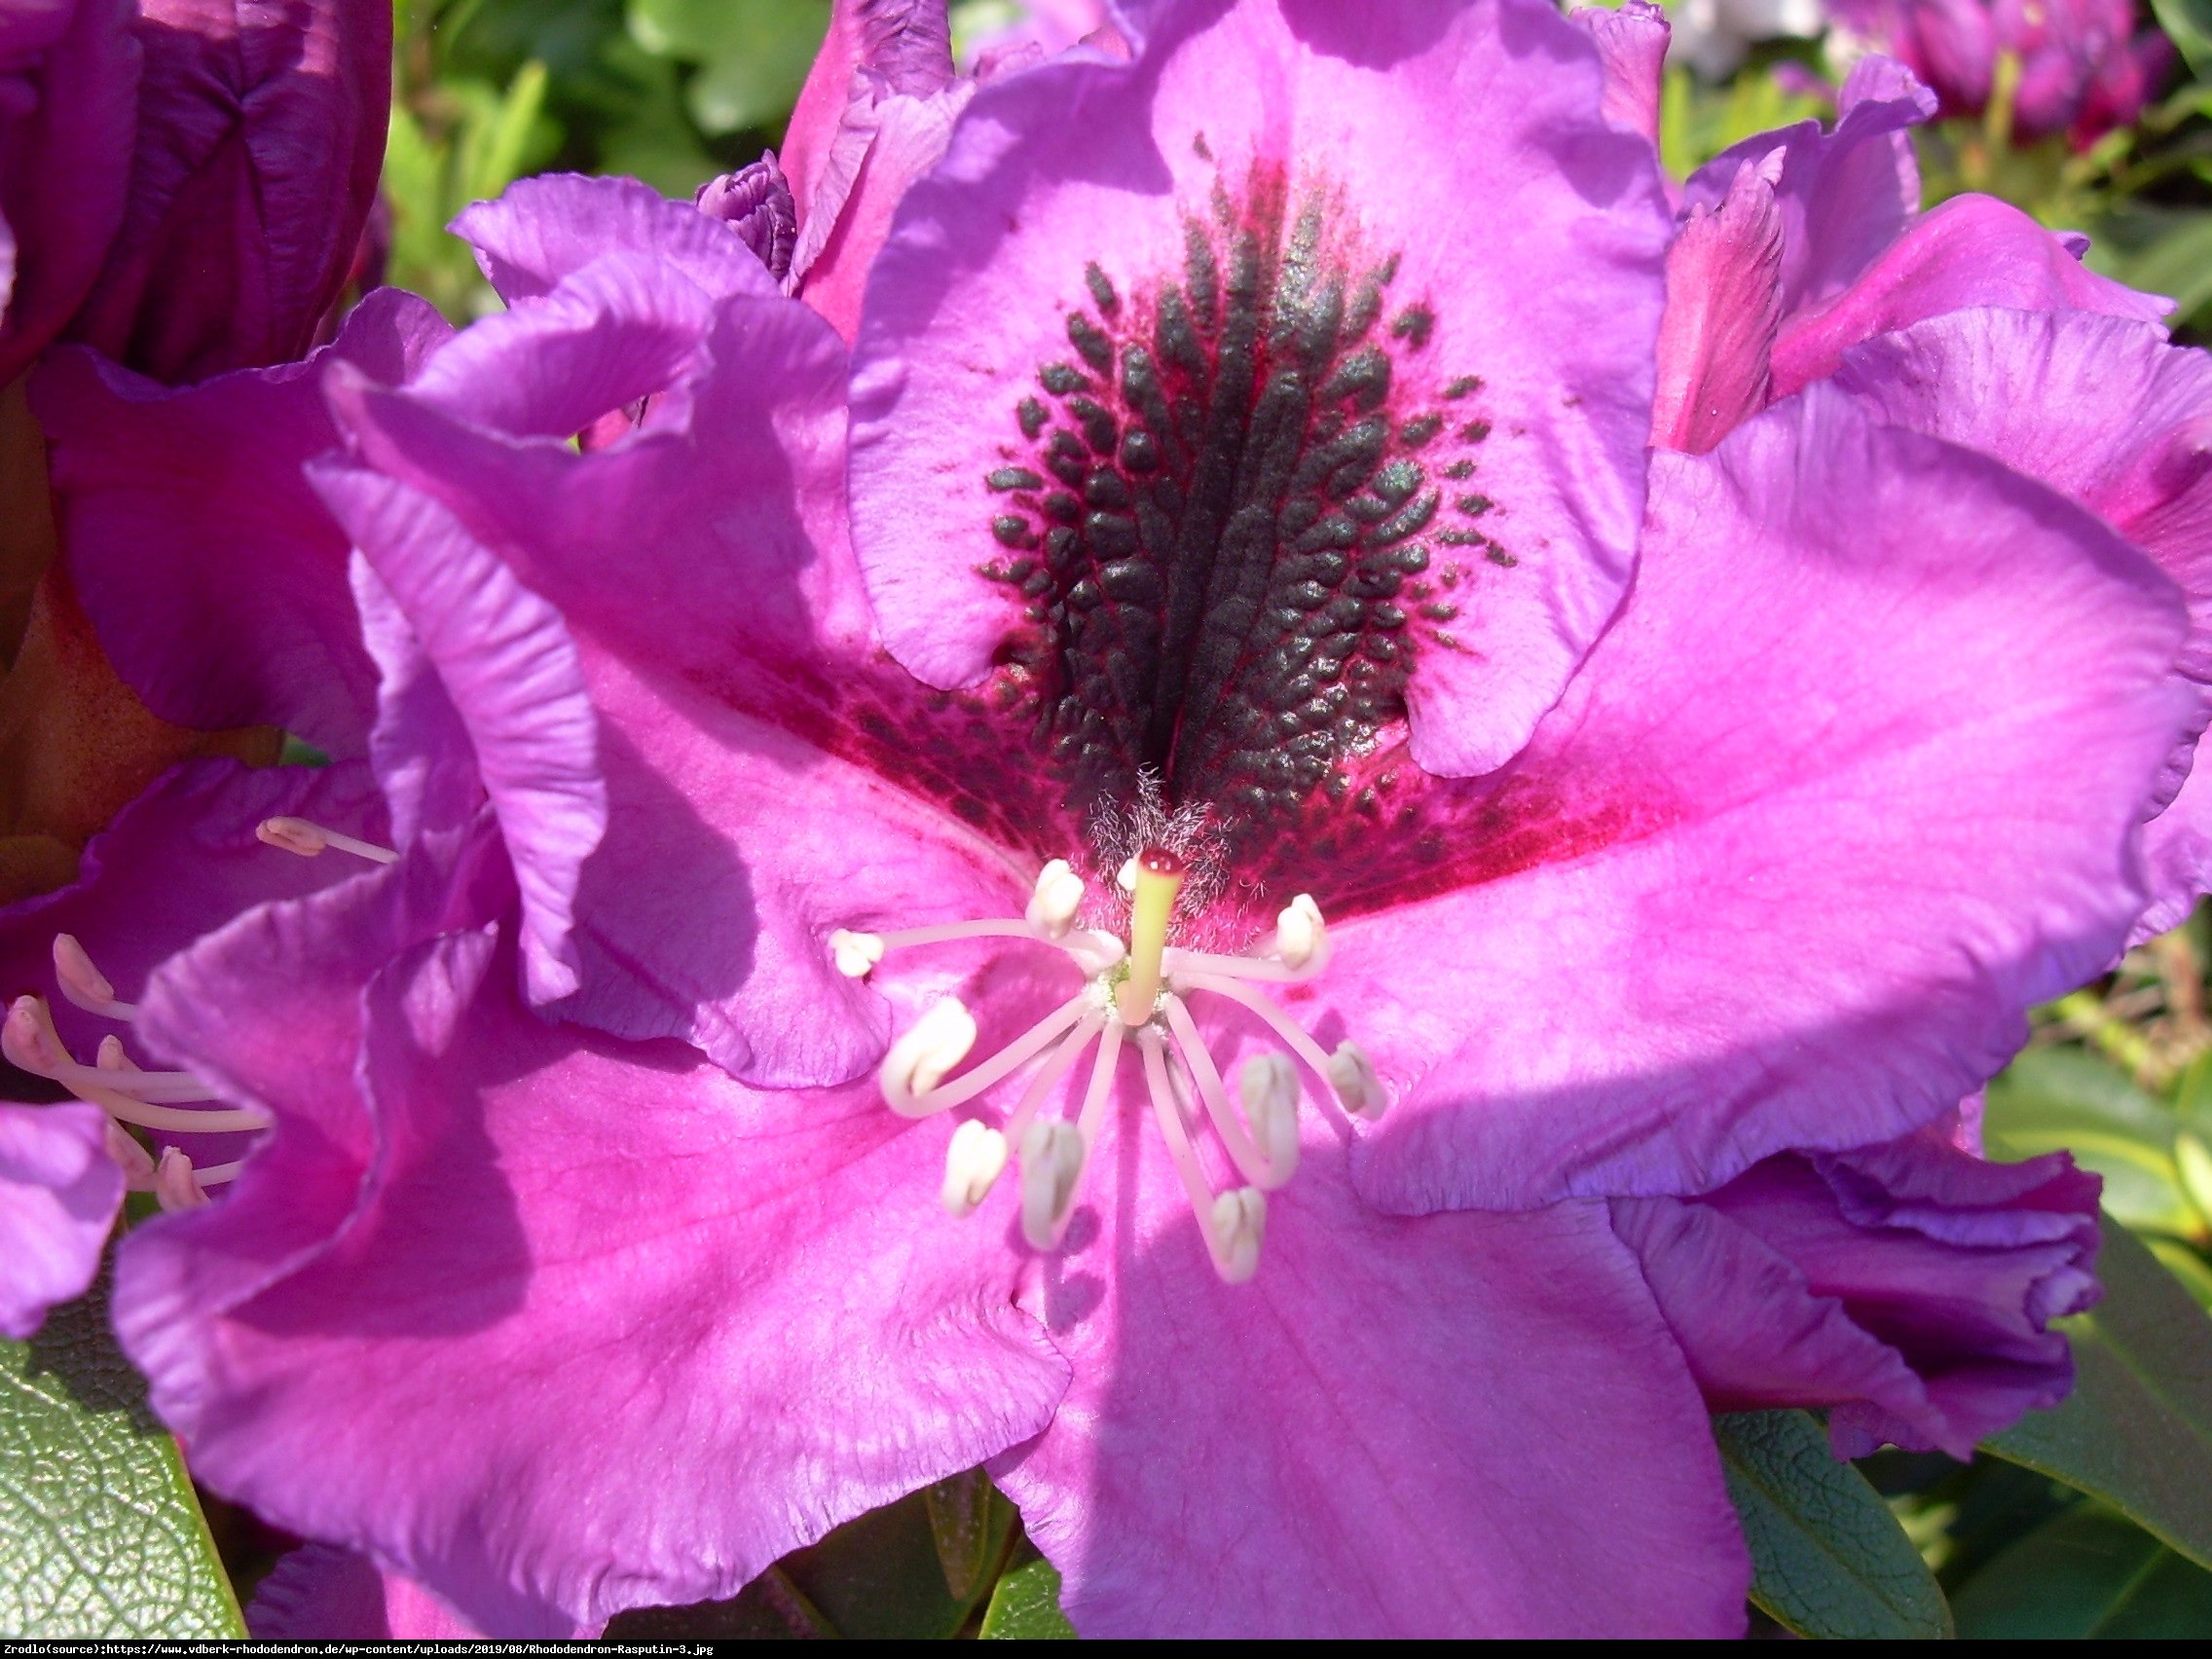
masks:
[(2104, 1504), (2075, 1504), (1951, 1597), (1962, 1637), (2203, 1637), (2212, 1573)]

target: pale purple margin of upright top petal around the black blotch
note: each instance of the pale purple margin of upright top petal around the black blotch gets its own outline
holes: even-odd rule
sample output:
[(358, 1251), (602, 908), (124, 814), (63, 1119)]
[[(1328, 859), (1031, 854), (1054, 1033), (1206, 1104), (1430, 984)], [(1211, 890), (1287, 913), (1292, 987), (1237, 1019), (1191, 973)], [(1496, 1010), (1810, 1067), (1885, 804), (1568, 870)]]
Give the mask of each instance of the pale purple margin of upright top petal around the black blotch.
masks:
[[(1343, 13), (1285, 18), (1270, 0), (1170, 13), (1137, 64), (1048, 64), (978, 91), (945, 161), (900, 206), (854, 354), (854, 542), (885, 641), (925, 681), (962, 686), (1009, 637), (1026, 639), (1024, 595), (978, 568), (1004, 557), (993, 535), (1031, 535), (1002, 491), (1051, 469), (1040, 385), (1057, 383), (1073, 418), (1091, 385), (1082, 363), (1104, 376), (1141, 347), (1179, 374), (1188, 330), (1172, 305), (1210, 314), (1223, 303), (1212, 272), (1274, 261), (1310, 234), (1318, 254), (1296, 268), (1312, 272), (1314, 312), (1338, 316), (1327, 292), (1349, 319), (1325, 336), (1343, 361), (1316, 369), (1329, 414), (1259, 352), (1267, 378), (1223, 400), (1234, 425), (1190, 467), (1223, 480), (1239, 456), (1256, 467), (1252, 422), (1336, 418), (1338, 403), (1345, 422), (1374, 409), (1436, 438), (1420, 465), (1449, 478), (1467, 460), (1480, 495), (1447, 507), (1429, 493), (1416, 511), (1442, 511), (1467, 542), (1480, 597), (1449, 626), (1411, 624), (1407, 701), (1422, 765), (1493, 768), (1553, 703), (1628, 575), (1666, 239), (1650, 148), (1601, 122), (1597, 53), (1544, 4), (1371, 4), (1349, 31)], [(1464, 257), (1502, 223), (1509, 257)], [(1234, 252), (1239, 237), (1252, 252)], [(1371, 356), (1354, 349), (1356, 325)], [(1234, 369), (1241, 347), (1228, 349)], [(1203, 358), (1197, 336), (1188, 352)], [(1360, 389), (1383, 369), (1387, 394)], [(1108, 403), (1141, 409), (1130, 385), (1124, 374)], [(1383, 409), (1354, 407), (1374, 396)], [(1321, 438), (1285, 431), (1321, 465)], [(1179, 495), (1188, 533), (1237, 504), (1210, 478), (1177, 473), (1197, 491)], [(1489, 515), (1484, 529), (1462, 511)], [(1475, 560), (1484, 546), (1495, 555)], [(1130, 577), (1128, 602), (1148, 591)]]

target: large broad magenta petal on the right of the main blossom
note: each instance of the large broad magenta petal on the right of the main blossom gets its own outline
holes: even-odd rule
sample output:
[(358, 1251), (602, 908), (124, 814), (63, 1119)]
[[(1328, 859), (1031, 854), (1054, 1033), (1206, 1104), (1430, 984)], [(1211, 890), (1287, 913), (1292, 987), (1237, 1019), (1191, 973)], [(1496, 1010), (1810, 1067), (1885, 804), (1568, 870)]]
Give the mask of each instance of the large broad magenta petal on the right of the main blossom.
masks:
[(1829, 387), (1657, 456), (1635, 595), (1464, 810), (1502, 874), (1338, 929), (1402, 1079), (1367, 1190), (1697, 1192), (1955, 1106), (2126, 938), (2179, 639), (2104, 524)]

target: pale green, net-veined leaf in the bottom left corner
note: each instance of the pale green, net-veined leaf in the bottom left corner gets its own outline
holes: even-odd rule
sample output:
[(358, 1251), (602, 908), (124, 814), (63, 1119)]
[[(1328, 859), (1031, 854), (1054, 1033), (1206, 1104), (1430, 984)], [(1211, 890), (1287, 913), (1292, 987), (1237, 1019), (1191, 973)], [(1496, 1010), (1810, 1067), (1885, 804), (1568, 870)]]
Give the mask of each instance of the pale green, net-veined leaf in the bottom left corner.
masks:
[(0, 1343), (0, 1632), (246, 1635), (104, 1290), (55, 1307), (29, 1343)]

